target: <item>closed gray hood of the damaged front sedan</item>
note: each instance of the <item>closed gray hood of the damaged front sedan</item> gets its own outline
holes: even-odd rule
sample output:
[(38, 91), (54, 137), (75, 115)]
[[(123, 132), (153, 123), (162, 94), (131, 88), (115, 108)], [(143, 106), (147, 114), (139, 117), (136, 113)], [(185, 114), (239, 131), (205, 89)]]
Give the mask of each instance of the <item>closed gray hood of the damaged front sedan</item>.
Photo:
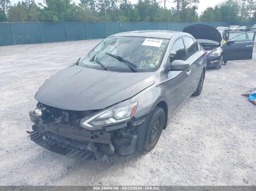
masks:
[(155, 72), (118, 73), (74, 65), (45, 81), (35, 99), (60, 109), (97, 110), (126, 100), (154, 83)]

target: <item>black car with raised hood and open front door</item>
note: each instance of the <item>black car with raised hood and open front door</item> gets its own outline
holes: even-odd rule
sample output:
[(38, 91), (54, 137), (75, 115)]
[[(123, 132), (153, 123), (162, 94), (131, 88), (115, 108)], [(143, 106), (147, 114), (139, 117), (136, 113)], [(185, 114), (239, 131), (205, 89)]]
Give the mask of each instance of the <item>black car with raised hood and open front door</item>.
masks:
[(226, 64), (228, 60), (252, 59), (254, 32), (238, 33), (228, 38), (223, 30), (204, 24), (185, 27), (183, 32), (193, 35), (204, 47), (207, 52), (207, 67), (220, 69), (222, 61)]

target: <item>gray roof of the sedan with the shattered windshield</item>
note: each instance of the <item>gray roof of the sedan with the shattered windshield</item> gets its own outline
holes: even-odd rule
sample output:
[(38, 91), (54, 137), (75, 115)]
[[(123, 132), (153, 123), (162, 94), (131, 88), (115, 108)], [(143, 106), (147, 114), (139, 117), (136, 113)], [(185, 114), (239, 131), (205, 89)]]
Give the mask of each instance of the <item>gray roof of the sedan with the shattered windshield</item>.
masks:
[(172, 30), (135, 30), (135, 31), (127, 31), (127, 32), (113, 34), (113, 35), (111, 35), (111, 37), (115, 37), (115, 36), (119, 36), (119, 37), (149, 37), (149, 38), (171, 39), (177, 33), (187, 35), (187, 33), (183, 33), (180, 31), (172, 31)]

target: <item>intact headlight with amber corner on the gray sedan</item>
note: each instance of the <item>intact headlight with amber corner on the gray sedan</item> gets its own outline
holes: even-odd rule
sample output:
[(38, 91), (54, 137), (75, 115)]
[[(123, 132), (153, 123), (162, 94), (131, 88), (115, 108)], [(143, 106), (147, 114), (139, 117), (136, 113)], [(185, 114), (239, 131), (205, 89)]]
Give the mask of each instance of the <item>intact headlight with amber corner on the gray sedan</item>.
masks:
[(121, 123), (131, 119), (135, 113), (138, 102), (131, 103), (131, 99), (118, 103), (98, 113), (81, 119), (80, 124), (85, 129), (97, 130), (104, 126)]

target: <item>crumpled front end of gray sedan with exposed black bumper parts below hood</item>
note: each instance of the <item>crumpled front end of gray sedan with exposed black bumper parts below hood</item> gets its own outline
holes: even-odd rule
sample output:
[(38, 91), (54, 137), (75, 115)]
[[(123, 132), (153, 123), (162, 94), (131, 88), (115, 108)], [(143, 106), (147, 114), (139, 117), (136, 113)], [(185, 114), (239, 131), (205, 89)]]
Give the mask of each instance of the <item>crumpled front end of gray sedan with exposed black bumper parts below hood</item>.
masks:
[(81, 127), (81, 119), (95, 112), (98, 110), (62, 110), (38, 103), (29, 112), (35, 124), (28, 133), (36, 144), (71, 158), (111, 161), (131, 156), (138, 137), (135, 125), (143, 119), (133, 123), (134, 126), (125, 122), (98, 130)]

